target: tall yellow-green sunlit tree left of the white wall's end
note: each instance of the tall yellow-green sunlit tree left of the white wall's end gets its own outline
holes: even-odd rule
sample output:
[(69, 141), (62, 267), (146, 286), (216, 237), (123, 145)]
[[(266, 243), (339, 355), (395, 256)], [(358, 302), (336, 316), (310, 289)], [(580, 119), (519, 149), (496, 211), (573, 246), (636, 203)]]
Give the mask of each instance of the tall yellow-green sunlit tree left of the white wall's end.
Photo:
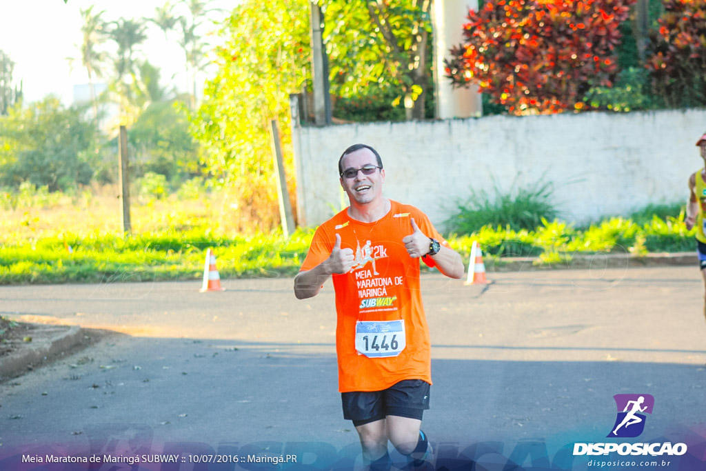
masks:
[[(268, 124), (278, 119), (285, 165), (292, 169), (289, 94), (309, 64), (308, 0), (244, 0), (220, 32), (218, 71), (205, 85), (192, 129), (205, 165), (230, 191), (243, 229), (277, 226), (277, 192)], [(288, 174), (293, 181), (292, 172)]]

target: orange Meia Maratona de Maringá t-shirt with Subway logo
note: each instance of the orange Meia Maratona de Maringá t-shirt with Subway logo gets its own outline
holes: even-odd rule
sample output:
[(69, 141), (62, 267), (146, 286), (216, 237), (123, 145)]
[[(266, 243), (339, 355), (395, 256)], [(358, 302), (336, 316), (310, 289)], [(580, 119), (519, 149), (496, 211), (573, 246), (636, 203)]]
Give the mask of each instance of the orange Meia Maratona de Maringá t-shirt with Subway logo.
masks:
[[(431, 383), (431, 344), (419, 290), (419, 258), (407, 254), (402, 239), (412, 234), (412, 217), (421, 232), (448, 246), (417, 208), (390, 201), (390, 212), (376, 222), (360, 222), (347, 209), (316, 229), (301, 271), (330, 256), (335, 234), (341, 248), (352, 249), (356, 263), (333, 275), (336, 292), (338, 386), (342, 393), (376, 391), (404, 379)], [(423, 258), (433, 266), (433, 259)], [(369, 358), (355, 348), (357, 321), (404, 319), (407, 345), (397, 357)]]

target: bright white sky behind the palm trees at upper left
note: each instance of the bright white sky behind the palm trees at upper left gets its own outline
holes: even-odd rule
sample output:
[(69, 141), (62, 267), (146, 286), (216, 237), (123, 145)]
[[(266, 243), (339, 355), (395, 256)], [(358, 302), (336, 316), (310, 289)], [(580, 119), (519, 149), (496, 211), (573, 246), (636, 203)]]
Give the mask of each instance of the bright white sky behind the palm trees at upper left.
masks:
[[(235, 2), (215, 0), (214, 6), (232, 8)], [(104, 20), (154, 16), (164, 0), (0, 0), (0, 49), (15, 62), (13, 78), (23, 82), (25, 102), (53, 94), (71, 104), (73, 85), (88, 83), (88, 73), (80, 65), (78, 46), (83, 23), (80, 10), (95, 5), (105, 11)], [(184, 54), (179, 46), (152, 25), (143, 52), (150, 63), (161, 69), (162, 85), (186, 89)], [(76, 57), (71, 66), (66, 58)]]

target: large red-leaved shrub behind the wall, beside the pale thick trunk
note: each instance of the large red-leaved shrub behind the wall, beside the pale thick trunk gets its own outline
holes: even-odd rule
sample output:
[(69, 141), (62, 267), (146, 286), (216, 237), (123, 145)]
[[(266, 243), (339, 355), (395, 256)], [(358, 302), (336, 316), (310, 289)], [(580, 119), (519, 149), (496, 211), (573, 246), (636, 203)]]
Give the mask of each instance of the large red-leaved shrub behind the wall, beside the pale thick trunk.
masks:
[(611, 85), (618, 26), (634, 0), (493, 0), (469, 11), (465, 44), (446, 74), (477, 83), (514, 114), (582, 109), (592, 86)]

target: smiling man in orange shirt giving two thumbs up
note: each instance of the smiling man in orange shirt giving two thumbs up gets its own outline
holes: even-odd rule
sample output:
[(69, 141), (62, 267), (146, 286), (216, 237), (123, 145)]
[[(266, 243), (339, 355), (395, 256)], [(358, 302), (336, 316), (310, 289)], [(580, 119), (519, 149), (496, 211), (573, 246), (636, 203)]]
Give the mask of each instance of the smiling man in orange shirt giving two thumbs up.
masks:
[[(420, 430), (429, 409), (431, 344), (419, 260), (450, 278), (462, 278), (463, 263), (424, 213), (383, 196), (385, 170), (375, 149), (347, 148), (338, 172), (350, 205), (316, 229), (294, 293), (316, 296), (333, 279), (343, 416), (358, 431), (364, 463), (389, 470), (390, 441), (410, 468), (422, 467), (431, 456)], [(352, 270), (361, 241), (371, 241), (373, 270)]]

